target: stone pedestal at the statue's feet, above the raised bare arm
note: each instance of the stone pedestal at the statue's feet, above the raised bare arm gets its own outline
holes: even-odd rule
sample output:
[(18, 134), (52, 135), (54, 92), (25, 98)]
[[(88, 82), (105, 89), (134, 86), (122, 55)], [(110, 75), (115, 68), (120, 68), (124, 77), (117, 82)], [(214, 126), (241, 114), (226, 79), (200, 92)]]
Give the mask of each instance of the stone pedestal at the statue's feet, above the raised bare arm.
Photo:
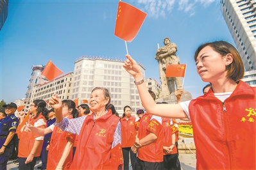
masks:
[[(184, 91), (181, 98), (182, 102), (185, 102), (187, 100), (192, 100), (192, 95), (189, 93), (189, 91)], [(177, 98), (175, 96), (175, 93), (171, 93), (169, 97), (161, 97), (155, 100), (155, 102), (167, 102), (168, 104), (176, 104)]]

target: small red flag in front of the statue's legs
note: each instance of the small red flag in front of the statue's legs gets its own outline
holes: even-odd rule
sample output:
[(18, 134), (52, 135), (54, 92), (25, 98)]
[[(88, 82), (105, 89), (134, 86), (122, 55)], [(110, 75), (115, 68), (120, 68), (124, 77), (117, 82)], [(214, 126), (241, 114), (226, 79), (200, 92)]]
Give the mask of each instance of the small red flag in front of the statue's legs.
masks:
[(184, 77), (187, 65), (167, 65), (166, 77)]

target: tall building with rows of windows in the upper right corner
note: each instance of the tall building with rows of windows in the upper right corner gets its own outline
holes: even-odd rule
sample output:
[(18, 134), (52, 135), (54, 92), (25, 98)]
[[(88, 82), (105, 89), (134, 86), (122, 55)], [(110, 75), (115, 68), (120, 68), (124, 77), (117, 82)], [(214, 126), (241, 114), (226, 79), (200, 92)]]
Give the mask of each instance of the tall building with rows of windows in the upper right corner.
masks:
[(221, 0), (221, 12), (245, 70), (256, 70), (256, 0)]

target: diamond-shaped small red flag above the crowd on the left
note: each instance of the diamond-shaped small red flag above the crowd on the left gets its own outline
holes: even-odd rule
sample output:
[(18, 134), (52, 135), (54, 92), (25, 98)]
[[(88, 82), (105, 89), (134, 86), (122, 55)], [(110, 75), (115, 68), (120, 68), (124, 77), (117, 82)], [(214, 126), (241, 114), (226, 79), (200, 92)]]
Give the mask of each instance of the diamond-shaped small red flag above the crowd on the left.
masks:
[(44, 75), (48, 81), (52, 81), (59, 75), (62, 75), (62, 70), (58, 69), (51, 60), (48, 61), (46, 64), (46, 67), (44, 67), (44, 70), (42, 71), (42, 75)]

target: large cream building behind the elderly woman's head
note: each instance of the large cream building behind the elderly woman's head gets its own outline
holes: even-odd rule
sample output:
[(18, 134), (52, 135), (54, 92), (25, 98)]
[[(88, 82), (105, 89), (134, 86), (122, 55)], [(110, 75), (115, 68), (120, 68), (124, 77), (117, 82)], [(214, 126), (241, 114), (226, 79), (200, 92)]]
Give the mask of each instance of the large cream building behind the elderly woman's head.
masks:
[[(111, 103), (116, 110), (123, 110), (125, 105), (132, 107), (134, 113), (141, 109), (141, 100), (133, 77), (123, 68), (124, 61), (103, 58), (78, 58), (74, 62), (74, 82), (71, 99), (89, 100), (95, 87), (105, 87), (110, 91)], [(143, 77), (145, 68), (139, 65)]]

